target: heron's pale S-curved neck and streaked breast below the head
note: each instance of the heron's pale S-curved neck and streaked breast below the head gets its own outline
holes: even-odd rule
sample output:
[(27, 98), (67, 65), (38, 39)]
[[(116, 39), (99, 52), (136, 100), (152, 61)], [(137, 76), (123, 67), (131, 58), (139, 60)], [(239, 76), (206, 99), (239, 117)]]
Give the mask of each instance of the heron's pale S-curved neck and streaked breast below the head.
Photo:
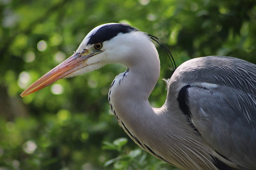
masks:
[[(181, 112), (167, 110), (165, 105), (160, 109), (150, 106), (148, 97), (160, 75), (158, 53), (155, 47), (152, 49), (154, 50), (146, 55), (136, 57), (140, 61), (129, 64), (128, 70), (114, 79), (108, 98), (112, 112), (130, 138), (155, 157), (182, 169), (199, 170), (196, 162), (183, 165), (187, 159), (191, 161), (190, 157), (198, 156), (206, 162), (207, 168), (215, 170), (207, 146), (198, 136), (186, 135), (187, 131), (191, 131), (193, 135), (194, 129), (186, 125), (186, 117), (182, 117)], [(190, 157), (178, 151), (183, 147), (191, 147), (192, 142), (197, 147), (192, 149)], [(161, 146), (165, 146), (164, 150)]]

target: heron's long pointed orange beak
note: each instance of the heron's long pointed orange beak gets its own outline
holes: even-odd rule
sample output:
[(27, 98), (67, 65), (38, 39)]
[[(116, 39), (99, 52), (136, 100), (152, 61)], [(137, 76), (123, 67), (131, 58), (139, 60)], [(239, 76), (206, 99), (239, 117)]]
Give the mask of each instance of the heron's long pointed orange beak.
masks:
[(36, 82), (31, 84), (26, 90), (24, 90), (24, 92), (22, 92), (20, 96), (24, 97), (31, 93), (34, 93), (42, 88), (45, 88), (46, 86), (49, 86), (50, 84), (56, 82), (59, 79), (68, 76), (72, 72), (88, 66), (86, 60), (89, 57), (92, 57), (93, 55), (101, 52), (102, 51), (100, 50), (85, 49), (82, 53), (74, 53), (68, 59), (66, 59), (58, 66), (50, 70), (48, 73), (44, 74), (44, 76), (36, 80)]

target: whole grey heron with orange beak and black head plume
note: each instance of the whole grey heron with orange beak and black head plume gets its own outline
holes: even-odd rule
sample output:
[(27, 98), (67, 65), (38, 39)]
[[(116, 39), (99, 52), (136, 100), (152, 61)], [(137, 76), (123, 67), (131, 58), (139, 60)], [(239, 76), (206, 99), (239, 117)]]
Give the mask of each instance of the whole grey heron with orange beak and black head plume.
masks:
[(21, 96), (119, 63), (127, 70), (112, 82), (108, 102), (140, 148), (183, 170), (256, 170), (256, 65), (217, 56), (186, 61), (166, 80), (164, 105), (154, 108), (148, 97), (160, 61), (152, 39), (158, 41), (130, 25), (95, 27), (71, 57)]

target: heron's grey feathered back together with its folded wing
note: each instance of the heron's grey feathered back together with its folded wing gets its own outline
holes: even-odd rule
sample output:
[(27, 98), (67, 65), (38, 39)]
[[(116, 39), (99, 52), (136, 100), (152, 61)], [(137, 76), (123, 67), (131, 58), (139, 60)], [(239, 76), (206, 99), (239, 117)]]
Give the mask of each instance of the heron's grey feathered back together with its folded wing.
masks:
[(190, 85), (189, 114), (204, 141), (232, 162), (256, 169), (256, 65), (232, 57), (192, 59), (174, 72), (168, 93), (177, 94), (170, 86), (181, 84)]

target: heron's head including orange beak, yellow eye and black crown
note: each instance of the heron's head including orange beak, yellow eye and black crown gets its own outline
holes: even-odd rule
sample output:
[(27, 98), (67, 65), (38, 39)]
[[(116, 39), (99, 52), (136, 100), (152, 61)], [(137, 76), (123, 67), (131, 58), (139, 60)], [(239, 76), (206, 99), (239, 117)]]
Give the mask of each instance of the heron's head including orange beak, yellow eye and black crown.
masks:
[[(120, 23), (107, 23), (95, 27), (86, 35), (76, 52), (29, 86), (20, 96), (36, 92), (61, 78), (90, 72), (110, 63), (129, 67), (142, 42), (151, 43), (146, 33)], [(142, 43), (143, 44), (143, 43)]]

